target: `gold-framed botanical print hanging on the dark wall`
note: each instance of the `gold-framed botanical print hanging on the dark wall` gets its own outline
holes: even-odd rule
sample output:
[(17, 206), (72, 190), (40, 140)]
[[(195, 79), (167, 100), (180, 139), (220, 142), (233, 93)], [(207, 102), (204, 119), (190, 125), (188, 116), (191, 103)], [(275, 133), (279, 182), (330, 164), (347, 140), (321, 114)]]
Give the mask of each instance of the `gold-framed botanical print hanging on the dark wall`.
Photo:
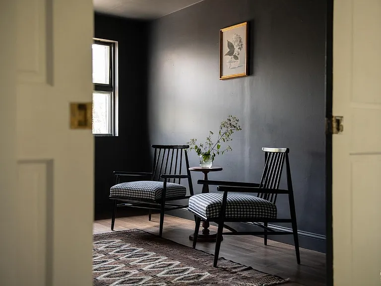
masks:
[(220, 79), (249, 75), (249, 22), (220, 30)]

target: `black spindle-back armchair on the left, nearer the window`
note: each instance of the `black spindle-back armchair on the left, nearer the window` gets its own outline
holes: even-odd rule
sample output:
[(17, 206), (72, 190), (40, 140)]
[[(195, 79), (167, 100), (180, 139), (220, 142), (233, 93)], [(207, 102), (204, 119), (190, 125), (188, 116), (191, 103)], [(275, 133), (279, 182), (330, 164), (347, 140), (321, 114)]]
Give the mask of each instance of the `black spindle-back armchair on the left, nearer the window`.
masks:
[[(114, 211), (111, 230), (114, 230), (115, 217), (118, 207), (134, 207), (160, 211), (160, 237), (163, 234), (164, 212), (187, 208), (188, 204), (172, 204), (171, 201), (185, 200), (193, 196), (191, 172), (187, 148), (189, 145), (152, 145), (154, 148), (151, 173), (114, 171), (116, 185), (110, 189), (110, 199), (114, 200)], [(184, 159), (185, 158), (185, 162)], [(186, 174), (182, 169), (186, 168)], [(121, 177), (146, 178), (132, 182), (121, 183)], [(188, 179), (190, 194), (181, 185), (181, 179)], [(121, 204), (118, 204), (122, 202)]]

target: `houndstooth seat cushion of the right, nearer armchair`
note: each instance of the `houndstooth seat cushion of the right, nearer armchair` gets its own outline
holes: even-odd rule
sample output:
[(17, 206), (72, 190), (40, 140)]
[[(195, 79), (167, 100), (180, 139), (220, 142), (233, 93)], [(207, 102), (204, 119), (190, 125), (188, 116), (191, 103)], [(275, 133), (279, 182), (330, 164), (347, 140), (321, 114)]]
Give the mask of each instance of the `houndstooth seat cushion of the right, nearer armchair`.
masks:
[[(223, 193), (194, 195), (189, 199), (188, 210), (204, 219), (218, 218), (222, 196)], [(276, 206), (264, 199), (249, 194), (228, 193), (225, 216), (227, 218), (276, 218), (276, 213)]]

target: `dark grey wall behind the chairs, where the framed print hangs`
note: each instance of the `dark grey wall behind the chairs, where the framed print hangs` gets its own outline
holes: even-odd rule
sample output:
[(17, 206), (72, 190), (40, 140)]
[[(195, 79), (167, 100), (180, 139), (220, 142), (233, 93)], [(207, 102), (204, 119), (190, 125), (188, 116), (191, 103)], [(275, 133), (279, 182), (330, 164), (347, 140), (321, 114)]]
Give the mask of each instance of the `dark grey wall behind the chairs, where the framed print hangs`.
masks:
[[(258, 182), (261, 147), (289, 147), (298, 228), (319, 235), (325, 234), (325, 17), (320, 0), (204, 0), (151, 23), (148, 80), (150, 143), (204, 140), (228, 114), (237, 116), (243, 130), (233, 136), (233, 151), (215, 158), (224, 171), (209, 179)], [(243, 21), (250, 22), (252, 74), (219, 80), (219, 30)], [(191, 165), (197, 159), (190, 154)], [(193, 174), (194, 184), (200, 178)], [(278, 217), (289, 214), (287, 197), (277, 205)], [(302, 246), (324, 250), (318, 240)]]

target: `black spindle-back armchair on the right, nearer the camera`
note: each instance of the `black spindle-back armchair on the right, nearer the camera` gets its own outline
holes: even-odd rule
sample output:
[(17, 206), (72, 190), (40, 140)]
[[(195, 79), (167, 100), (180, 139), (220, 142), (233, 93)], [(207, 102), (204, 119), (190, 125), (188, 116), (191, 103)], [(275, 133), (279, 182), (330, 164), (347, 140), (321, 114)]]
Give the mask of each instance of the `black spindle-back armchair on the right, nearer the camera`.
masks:
[[(189, 200), (188, 210), (196, 216), (193, 248), (197, 243), (200, 220), (218, 223), (217, 241), (214, 252), (214, 267), (217, 267), (222, 235), (263, 235), (264, 244), (267, 245), (268, 235), (292, 234), (296, 258), (300, 264), (298, 227), (294, 193), (292, 189), (290, 162), (288, 148), (262, 148), (265, 154), (265, 163), (262, 178), (259, 184), (226, 181), (198, 180), (198, 184), (217, 185), (222, 193), (197, 194)], [(284, 162), (286, 161), (287, 190), (280, 190), (279, 183)], [(229, 194), (230, 193), (230, 194)], [(257, 196), (246, 194), (257, 193)], [(290, 205), (290, 218), (277, 218), (276, 198), (278, 194), (287, 194)], [(225, 225), (225, 222), (254, 222), (263, 231), (236, 231)], [(271, 222), (288, 222), (292, 231), (276, 231), (268, 227)], [(222, 232), (223, 228), (231, 232)]]

